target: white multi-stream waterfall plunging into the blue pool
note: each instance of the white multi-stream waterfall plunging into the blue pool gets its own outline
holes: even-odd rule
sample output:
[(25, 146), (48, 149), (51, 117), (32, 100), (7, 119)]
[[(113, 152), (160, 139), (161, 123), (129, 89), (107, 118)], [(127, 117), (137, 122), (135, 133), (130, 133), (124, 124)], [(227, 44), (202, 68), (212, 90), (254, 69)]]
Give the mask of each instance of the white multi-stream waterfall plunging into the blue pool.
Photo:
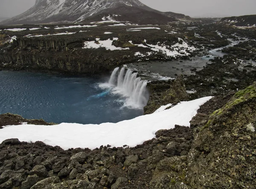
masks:
[(129, 97), (130, 103), (134, 106), (143, 108), (148, 101), (148, 91), (146, 89), (147, 81), (137, 77), (131, 69), (115, 68), (111, 74), (108, 83), (120, 93)]

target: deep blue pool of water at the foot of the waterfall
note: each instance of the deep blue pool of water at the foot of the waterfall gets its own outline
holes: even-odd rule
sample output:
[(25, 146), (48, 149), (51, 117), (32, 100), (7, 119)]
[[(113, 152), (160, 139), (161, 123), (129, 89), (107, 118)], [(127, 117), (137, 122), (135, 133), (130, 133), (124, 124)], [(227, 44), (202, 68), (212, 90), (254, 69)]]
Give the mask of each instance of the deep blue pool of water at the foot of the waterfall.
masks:
[(0, 72), (0, 114), (54, 123), (117, 123), (143, 115), (143, 107), (127, 106), (130, 97), (102, 77), (67, 77), (31, 72)]

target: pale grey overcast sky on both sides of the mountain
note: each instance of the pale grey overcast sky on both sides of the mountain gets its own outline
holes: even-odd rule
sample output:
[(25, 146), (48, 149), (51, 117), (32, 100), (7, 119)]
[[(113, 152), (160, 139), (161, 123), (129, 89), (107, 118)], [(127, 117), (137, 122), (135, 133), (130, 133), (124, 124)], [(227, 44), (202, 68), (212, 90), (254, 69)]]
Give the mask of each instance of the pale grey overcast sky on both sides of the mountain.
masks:
[[(191, 17), (225, 17), (256, 14), (256, 0), (140, 0), (160, 11)], [(0, 17), (13, 17), (35, 4), (35, 0), (0, 0)]]

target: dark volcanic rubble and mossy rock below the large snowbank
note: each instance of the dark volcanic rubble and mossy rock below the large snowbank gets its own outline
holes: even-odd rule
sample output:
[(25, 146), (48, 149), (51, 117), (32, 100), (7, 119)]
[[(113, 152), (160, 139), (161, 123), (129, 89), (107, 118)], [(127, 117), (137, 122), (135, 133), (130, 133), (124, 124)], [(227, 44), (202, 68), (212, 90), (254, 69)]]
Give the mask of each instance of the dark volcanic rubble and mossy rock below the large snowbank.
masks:
[[(10, 117), (2, 115), (1, 122)], [(134, 148), (64, 151), (42, 142), (5, 140), (0, 144), (0, 188), (255, 188), (255, 126), (253, 83), (209, 100), (190, 128), (160, 130)]]

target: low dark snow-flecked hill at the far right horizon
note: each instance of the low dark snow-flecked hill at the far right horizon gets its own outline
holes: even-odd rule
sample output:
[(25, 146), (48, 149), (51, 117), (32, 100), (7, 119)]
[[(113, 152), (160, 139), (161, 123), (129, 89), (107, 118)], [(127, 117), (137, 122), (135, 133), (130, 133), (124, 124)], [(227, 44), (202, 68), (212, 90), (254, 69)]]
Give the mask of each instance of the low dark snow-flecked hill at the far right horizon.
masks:
[(229, 26), (252, 27), (256, 26), (256, 14), (244, 15), (239, 17), (225, 17), (222, 18), (218, 23)]

